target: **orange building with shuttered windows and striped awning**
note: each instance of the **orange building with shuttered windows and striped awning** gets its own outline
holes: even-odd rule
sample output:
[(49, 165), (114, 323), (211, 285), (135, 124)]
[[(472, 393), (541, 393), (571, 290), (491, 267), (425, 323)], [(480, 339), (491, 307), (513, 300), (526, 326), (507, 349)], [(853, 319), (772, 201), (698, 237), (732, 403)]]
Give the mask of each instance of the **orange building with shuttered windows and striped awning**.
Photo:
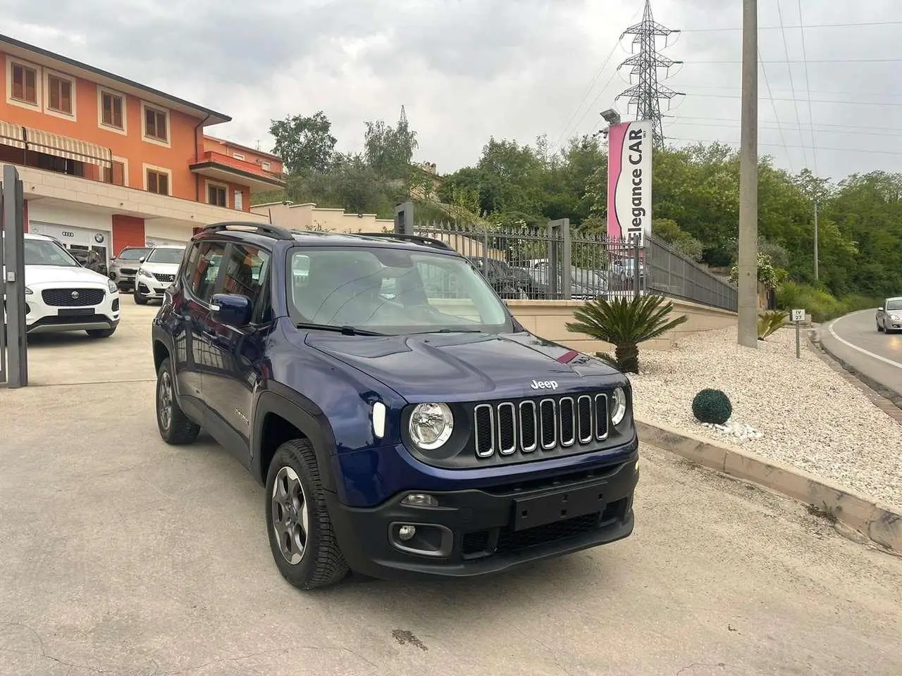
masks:
[(278, 157), (205, 135), (231, 118), (201, 105), (4, 35), (0, 81), (0, 164), (17, 165), (29, 230), (70, 248), (108, 260), (262, 222), (251, 195), (285, 186)]

